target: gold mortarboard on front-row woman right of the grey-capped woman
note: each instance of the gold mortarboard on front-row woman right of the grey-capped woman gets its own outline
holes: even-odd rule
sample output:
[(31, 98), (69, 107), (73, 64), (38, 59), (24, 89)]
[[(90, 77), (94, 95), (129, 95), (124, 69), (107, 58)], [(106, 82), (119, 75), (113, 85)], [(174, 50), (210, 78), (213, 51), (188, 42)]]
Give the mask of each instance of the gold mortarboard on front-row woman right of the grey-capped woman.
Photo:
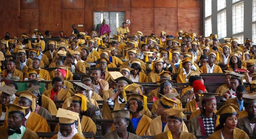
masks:
[(169, 108), (164, 110), (164, 112), (168, 115), (168, 119), (173, 119), (173, 118), (179, 118), (181, 121), (184, 117), (183, 111), (186, 111), (188, 109), (183, 109), (183, 108)]

